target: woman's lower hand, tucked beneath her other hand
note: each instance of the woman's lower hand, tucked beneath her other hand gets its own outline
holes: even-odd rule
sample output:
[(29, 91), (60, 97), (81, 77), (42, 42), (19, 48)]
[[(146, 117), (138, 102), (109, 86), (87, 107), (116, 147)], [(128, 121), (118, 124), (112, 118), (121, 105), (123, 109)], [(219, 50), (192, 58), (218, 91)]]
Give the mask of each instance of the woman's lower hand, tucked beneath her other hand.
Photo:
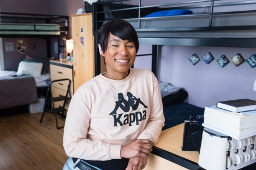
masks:
[(141, 170), (147, 165), (147, 158), (141, 156), (130, 158), (127, 168), (125, 170)]

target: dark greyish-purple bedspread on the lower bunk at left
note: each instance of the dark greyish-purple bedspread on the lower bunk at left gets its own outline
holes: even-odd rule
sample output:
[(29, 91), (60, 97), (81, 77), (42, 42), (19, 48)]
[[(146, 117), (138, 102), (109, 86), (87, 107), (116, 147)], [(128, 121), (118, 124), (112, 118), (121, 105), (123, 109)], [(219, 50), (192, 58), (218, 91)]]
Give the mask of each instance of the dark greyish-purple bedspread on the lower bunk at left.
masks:
[(0, 109), (38, 102), (34, 77), (0, 71)]

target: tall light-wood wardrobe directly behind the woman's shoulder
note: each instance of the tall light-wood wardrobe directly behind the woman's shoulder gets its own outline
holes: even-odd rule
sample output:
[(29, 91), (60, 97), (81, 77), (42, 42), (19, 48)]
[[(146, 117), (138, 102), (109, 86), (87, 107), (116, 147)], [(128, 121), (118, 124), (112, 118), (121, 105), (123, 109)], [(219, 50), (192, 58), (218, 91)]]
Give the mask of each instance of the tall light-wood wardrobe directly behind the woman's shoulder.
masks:
[[(74, 91), (94, 75), (92, 13), (71, 15), (73, 39)], [(83, 43), (81, 41), (83, 40)], [(106, 71), (101, 57), (101, 73)]]

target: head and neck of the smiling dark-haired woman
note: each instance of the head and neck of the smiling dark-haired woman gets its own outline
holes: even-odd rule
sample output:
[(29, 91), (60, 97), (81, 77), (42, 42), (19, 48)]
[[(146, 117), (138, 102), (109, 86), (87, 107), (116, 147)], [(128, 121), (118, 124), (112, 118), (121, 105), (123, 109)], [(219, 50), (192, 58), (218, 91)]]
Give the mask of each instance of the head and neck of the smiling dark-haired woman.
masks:
[(111, 20), (97, 33), (97, 43), (106, 62), (106, 78), (121, 80), (129, 74), (139, 50), (135, 29), (125, 20)]

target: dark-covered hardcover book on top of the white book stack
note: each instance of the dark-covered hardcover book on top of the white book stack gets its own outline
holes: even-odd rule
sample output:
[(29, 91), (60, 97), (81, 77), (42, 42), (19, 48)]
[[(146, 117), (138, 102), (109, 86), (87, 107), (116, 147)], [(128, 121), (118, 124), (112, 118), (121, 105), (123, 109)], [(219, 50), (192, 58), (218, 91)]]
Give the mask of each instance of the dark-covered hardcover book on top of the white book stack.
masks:
[(256, 110), (256, 101), (250, 99), (219, 101), (216, 106), (230, 112), (246, 112)]

